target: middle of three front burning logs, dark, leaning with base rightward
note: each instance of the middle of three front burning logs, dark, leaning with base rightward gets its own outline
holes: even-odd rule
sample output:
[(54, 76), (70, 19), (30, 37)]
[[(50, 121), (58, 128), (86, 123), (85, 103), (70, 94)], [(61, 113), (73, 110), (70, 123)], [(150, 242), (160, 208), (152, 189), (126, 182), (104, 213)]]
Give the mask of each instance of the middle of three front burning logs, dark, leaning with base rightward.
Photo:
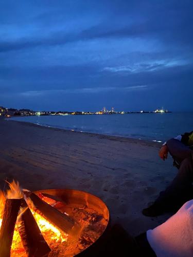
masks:
[[(22, 200), (21, 206), (24, 211), (17, 224), (17, 229), (20, 233), (20, 237), (24, 246), (24, 249), (29, 257), (47, 256), (51, 251), (48, 244), (44, 240), (44, 237), (33, 217), (29, 207), (25, 200)], [(1, 255), (0, 255), (1, 256)]]

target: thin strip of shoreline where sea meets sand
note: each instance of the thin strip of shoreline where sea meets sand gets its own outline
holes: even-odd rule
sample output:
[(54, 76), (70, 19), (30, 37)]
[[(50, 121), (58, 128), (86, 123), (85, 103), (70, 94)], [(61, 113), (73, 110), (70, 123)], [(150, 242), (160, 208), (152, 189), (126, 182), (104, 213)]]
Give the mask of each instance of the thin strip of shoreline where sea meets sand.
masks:
[[(20, 116), (17, 116), (20, 117)], [(22, 116), (22, 117), (27, 117), (27, 116)], [(64, 130), (64, 131), (71, 131), (71, 132), (77, 132), (77, 133), (85, 133), (85, 134), (91, 134), (91, 135), (101, 135), (101, 136), (107, 136), (107, 137), (117, 137), (117, 138), (125, 138), (125, 139), (134, 139), (134, 140), (140, 140), (140, 141), (145, 141), (145, 142), (153, 142), (153, 143), (159, 143), (159, 146), (161, 146), (161, 144), (163, 144), (162, 141), (160, 140), (148, 140), (148, 139), (141, 139), (141, 138), (132, 138), (132, 137), (126, 137), (126, 136), (120, 136), (120, 135), (110, 135), (110, 134), (102, 134), (102, 133), (96, 133), (96, 132), (86, 132), (86, 131), (79, 131), (79, 130), (73, 130), (73, 129), (69, 129), (67, 130), (66, 128), (60, 128), (60, 127), (55, 127), (55, 126), (50, 126), (50, 125), (41, 125), (38, 123), (33, 123), (33, 122), (29, 122), (29, 121), (17, 121), (17, 120), (12, 120), (10, 118), (4, 118), (4, 120), (6, 121), (14, 121), (14, 122), (21, 122), (21, 123), (27, 123), (27, 124), (33, 124), (33, 125), (37, 125), (37, 126), (42, 126), (42, 127), (47, 127), (47, 128), (56, 128), (58, 130)]]

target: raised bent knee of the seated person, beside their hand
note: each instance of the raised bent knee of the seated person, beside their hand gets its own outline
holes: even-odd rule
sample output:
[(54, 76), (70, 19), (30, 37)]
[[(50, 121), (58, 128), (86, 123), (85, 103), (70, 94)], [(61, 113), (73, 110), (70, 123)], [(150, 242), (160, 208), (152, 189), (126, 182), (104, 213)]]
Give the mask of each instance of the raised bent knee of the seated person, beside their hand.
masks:
[(178, 162), (178, 164), (181, 164), (185, 158), (189, 157), (191, 152), (188, 146), (174, 138), (167, 141), (167, 146), (170, 155)]

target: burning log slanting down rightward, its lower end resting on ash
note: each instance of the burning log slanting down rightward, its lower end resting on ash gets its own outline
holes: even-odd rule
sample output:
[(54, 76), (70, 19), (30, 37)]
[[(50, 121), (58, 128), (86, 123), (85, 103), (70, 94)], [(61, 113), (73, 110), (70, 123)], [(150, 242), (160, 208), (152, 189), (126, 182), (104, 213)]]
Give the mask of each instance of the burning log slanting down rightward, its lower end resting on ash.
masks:
[(68, 217), (68, 215), (59, 212), (34, 193), (29, 193), (27, 196), (27, 204), (34, 212), (43, 216), (48, 222), (61, 231), (64, 231), (67, 234), (72, 232), (73, 227), (75, 227), (75, 222)]

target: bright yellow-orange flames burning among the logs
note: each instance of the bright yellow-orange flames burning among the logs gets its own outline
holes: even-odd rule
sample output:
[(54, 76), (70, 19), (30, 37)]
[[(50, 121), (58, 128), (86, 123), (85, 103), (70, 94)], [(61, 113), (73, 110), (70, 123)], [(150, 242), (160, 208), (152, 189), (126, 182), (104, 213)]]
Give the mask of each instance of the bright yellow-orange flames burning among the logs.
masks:
[[(6, 193), (0, 191), (0, 228), (2, 225), (2, 219), (3, 219), (3, 213), (4, 213), (4, 205), (6, 199), (20, 199), (24, 197), (24, 193), (22, 189), (20, 188), (19, 182), (15, 182), (14, 180), (9, 183), (9, 190), (7, 190)], [(22, 241), (20, 238), (19, 231), (17, 230), (17, 227), (20, 226), (20, 217), (25, 212), (26, 208), (23, 209), (20, 207), (19, 215), (17, 216), (17, 222), (13, 233), (13, 241), (11, 246), (11, 255), (12, 256), (26, 256), (25, 250), (22, 245)], [(30, 209), (31, 210), (31, 209)], [(61, 232), (58, 230), (54, 225), (50, 224), (44, 217), (39, 215), (38, 213), (32, 211), (33, 217), (36, 219), (36, 222), (42, 232), (42, 235), (44, 236), (46, 242), (64, 242), (67, 241), (67, 234), (64, 232)], [(22, 253), (22, 255), (21, 255)]]

